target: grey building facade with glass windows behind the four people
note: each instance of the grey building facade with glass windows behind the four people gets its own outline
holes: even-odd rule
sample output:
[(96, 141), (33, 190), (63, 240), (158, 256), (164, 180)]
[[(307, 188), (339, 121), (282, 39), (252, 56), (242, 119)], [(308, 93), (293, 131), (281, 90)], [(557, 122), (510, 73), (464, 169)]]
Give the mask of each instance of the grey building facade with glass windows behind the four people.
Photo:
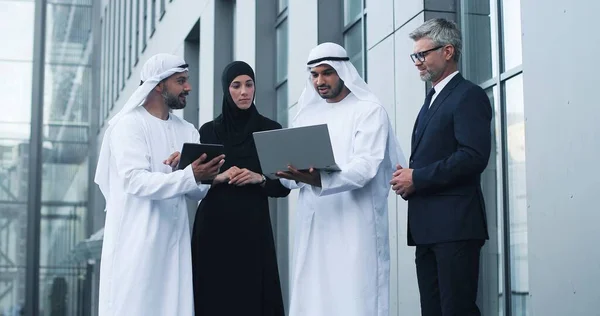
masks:
[[(99, 144), (150, 56), (177, 54), (189, 64), (193, 91), (175, 115), (196, 126), (219, 114), (221, 71), (233, 60), (255, 69), (258, 110), (286, 126), (307, 81), (309, 51), (339, 43), (384, 103), (408, 155), (428, 88), (409, 58), (408, 34), (436, 17), (460, 26), (460, 71), (485, 89), (494, 110), (482, 177), (490, 232), (480, 269), (483, 315), (600, 315), (594, 202), (600, 140), (593, 136), (600, 127), (592, 121), (600, 110), (588, 93), (594, 72), (572, 70), (576, 61), (593, 65), (600, 49), (597, 37), (581, 35), (593, 31), (577, 32), (595, 26), (597, 2), (0, 0), (0, 6), (9, 9), (3, 29), (26, 34), (23, 40), (4, 32), (15, 45), (0, 49), (0, 76), (8, 82), (1, 97), (8, 116), (0, 119), (0, 315), (23, 306), (40, 315), (53, 308), (96, 315), (104, 223), (104, 201), (92, 181)], [(12, 24), (14, 16), (25, 20)], [(12, 104), (30, 110), (14, 111)], [(286, 308), (296, 198), (271, 203)], [(388, 202), (390, 312), (419, 315), (407, 205), (395, 195)], [(194, 204), (189, 211), (193, 220)]]

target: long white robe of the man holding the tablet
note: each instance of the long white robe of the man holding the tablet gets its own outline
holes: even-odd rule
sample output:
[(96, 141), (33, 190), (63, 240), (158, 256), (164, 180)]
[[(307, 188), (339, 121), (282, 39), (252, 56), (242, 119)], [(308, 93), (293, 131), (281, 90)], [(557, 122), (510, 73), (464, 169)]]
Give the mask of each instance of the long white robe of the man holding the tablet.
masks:
[(185, 195), (202, 199), (191, 167), (163, 161), (184, 142), (199, 142), (192, 124), (143, 107), (124, 115), (110, 139), (110, 191), (100, 265), (100, 316), (194, 314)]

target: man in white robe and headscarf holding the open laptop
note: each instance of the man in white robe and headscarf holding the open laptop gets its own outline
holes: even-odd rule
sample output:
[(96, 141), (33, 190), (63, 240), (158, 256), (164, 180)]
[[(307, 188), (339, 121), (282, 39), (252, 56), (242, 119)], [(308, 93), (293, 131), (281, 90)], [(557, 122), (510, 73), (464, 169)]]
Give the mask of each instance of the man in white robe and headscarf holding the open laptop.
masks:
[(308, 60), (293, 126), (327, 124), (341, 171), (278, 173), (300, 188), (290, 316), (387, 316), (389, 172), (404, 155), (343, 47), (323, 43)]

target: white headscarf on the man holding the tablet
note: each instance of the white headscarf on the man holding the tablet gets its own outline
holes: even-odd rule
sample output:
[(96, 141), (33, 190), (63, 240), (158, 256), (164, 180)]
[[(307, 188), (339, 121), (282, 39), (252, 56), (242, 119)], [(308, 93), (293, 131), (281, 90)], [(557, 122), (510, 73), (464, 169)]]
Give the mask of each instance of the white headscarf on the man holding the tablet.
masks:
[(144, 63), (144, 66), (142, 66), (142, 72), (140, 74), (142, 82), (140, 86), (133, 92), (131, 97), (129, 97), (129, 100), (123, 105), (121, 111), (108, 121), (109, 126), (104, 133), (102, 146), (100, 147), (100, 155), (98, 157), (94, 182), (100, 187), (100, 191), (102, 191), (105, 199), (108, 199), (110, 196), (110, 137), (115, 124), (123, 117), (123, 115), (144, 104), (148, 94), (159, 82), (175, 73), (185, 71), (188, 71), (185, 60), (171, 54), (156, 54), (150, 57), (146, 63)]

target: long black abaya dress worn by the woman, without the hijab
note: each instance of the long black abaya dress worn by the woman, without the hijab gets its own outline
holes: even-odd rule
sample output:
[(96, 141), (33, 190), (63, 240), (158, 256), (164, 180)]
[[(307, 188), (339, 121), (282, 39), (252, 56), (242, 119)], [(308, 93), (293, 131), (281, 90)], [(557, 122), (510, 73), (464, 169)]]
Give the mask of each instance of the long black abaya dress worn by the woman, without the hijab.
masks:
[[(200, 128), (200, 141), (222, 144), (215, 122)], [(255, 131), (281, 125), (258, 115)], [(225, 164), (261, 173), (252, 137), (231, 150)], [(283, 316), (283, 300), (269, 217), (268, 197), (285, 197), (289, 190), (278, 180), (235, 186), (212, 186), (196, 212), (192, 233), (196, 316)]]

